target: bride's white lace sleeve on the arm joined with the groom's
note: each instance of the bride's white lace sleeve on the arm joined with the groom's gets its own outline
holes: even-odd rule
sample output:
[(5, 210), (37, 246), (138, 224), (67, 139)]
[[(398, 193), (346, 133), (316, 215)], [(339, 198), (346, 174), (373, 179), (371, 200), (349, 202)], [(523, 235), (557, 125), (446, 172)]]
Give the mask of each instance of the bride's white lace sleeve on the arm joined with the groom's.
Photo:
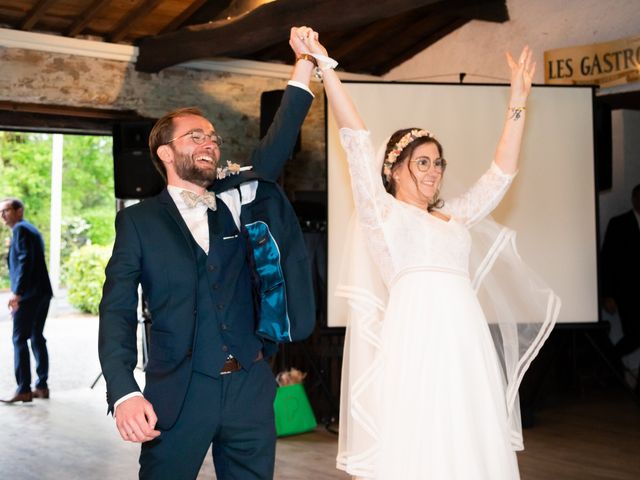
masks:
[(392, 275), (393, 262), (383, 225), (394, 199), (382, 184), (370, 133), (341, 128), (340, 142), (347, 153), (351, 190), (360, 228), (383, 275)]

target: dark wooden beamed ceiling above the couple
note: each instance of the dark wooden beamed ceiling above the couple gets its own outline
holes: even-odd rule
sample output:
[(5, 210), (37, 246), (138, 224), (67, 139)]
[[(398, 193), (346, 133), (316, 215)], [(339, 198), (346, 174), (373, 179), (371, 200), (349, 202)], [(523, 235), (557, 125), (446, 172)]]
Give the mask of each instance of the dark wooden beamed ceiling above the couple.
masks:
[(340, 68), (383, 75), (465, 23), (509, 19), (506, 0), (0, 0), (0, 27), (139, 47), (136, 69), (227, 57), (291, 63), (308, 25)]

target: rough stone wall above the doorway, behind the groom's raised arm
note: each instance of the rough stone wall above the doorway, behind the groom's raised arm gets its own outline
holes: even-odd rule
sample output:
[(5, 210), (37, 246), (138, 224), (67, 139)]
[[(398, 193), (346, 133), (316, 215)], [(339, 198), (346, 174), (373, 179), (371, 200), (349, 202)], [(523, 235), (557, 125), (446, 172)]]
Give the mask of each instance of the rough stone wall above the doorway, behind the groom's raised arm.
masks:
[[(131, 63), (0, 47), (0, 101), (133, 110), (157, 118), (184, 106), (200, 107), (225, 140), (223, 160), (242, 162), (259, 140), (260, 94), (286, 81), (241, 74), (168, 68), (137, 72)], [(322, 87), (302, 130), (302, 149), (285, 170), (285, 188), (325, 189)]]

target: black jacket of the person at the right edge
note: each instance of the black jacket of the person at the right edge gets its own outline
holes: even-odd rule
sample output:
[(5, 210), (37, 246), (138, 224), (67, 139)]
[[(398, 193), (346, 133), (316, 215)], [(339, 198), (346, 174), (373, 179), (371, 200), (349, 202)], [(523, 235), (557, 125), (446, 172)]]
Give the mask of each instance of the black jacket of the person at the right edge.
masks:
[(609, 220), (601, 265), (605, 297), (613, 297), (616, 301), (637, 299), (640, 292), (640, 228), (633, 210)]

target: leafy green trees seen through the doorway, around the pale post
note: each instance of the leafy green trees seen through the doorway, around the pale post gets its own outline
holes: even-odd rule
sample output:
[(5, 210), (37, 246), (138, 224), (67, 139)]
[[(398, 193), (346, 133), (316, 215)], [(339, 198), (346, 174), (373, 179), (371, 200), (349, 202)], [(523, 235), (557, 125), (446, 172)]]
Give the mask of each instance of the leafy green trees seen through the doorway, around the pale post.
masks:
[[(51, 215), (52, 135), (0, 132), (0, 197), (17, 197), (25, 218), (45, 241), (47, 254)], [(114, 240), (115, 198), (111, 137), (65, 135), (62, 172), (61, 282), (71, 253), (88, 244)], [(0, 231), (0, 288), (8, 287), (6, 266), (10, 231)]]

